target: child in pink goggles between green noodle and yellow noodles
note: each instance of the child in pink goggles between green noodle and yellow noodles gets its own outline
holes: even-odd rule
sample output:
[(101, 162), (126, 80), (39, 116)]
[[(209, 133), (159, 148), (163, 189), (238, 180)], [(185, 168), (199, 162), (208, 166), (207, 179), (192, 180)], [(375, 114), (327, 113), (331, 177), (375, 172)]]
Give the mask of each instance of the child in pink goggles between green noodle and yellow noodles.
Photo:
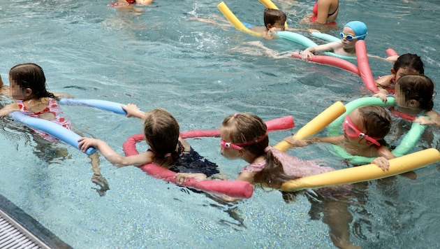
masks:
[(381, 169), (386, 170), (390, 166), (388, 159), (395, 156), (386, 147), (383, 138), (391, 128), (390, 114), (381, 106), (361, 106), (355, 108), (346, 115), (342, 123), (344, 134), (339, 136), (327, 136), (311, 138), (299, 142), (293, 136), (284, 138), (293, 146), (307, 146), (309, 143), (323, 142), (338, 145), (351, 155), (362, 157), (376, 157), (372, 160)]

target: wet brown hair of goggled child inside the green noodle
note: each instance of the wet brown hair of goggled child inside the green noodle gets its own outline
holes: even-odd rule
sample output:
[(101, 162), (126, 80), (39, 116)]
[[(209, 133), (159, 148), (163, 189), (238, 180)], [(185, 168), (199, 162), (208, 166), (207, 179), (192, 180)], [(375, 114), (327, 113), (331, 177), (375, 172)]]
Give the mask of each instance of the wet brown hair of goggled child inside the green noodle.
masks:
[[(361, 106), (358, 108), (362, 117), (365, 134), (375, 138), (384, 138), (391, 129), (390, 113), (381, 106)], [(385, 141), (379, 141), (385, 143)]]

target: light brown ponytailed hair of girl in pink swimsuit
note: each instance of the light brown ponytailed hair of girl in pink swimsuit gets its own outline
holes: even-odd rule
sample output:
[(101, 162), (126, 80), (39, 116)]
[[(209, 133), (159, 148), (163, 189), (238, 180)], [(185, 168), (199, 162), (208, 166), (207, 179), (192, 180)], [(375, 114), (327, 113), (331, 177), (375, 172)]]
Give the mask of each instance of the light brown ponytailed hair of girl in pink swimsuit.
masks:
[(223, 138), (231, 143), (240, 144), (249, 141), (257, 141), (258, 138), (263, 140), (252, 143), (250, 145), (240, 145), (244, 150), (253, 155), (265, 155), (266, 166), (263, 170), (258, 171), (254, 175), (254, 183), (261, 183), (267, 187), (279, 188), (286, 180), (293, 178), (286, 176), (283, 165), (274, 157), (272, 151), (265, 152), (265, 148), (269, 146), (269, 138), (267, 137), (267, 127), (265, 122), (257, 115), (250, 113), (239, 113), (230, 115), (223, 120), (222, 135)]

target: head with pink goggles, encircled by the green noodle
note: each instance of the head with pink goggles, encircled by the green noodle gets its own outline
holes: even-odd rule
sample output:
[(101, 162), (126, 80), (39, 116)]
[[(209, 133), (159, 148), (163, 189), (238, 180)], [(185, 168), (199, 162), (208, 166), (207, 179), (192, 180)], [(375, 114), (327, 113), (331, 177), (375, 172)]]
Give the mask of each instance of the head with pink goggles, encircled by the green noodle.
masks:
[(361, 106), (346, 115), (344, 136), (352, 144), (380, 146), (390, 132), (390, 114), (381, 106)]

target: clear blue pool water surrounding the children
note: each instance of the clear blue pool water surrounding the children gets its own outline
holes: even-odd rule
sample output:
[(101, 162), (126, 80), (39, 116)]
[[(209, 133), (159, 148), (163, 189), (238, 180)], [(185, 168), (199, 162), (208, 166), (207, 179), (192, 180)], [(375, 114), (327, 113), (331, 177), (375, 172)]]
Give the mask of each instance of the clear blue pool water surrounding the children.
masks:
[[(272, 144), (292, 134), (335, 101), (367, 96), (358, 76), (329, 66), (272, 59), (237, 51), (259, 41), (189, 17), (222, 18), (218, 1), (155, 1), (133, 15), (107, 1), (0, 0), (0, 74), (34, 62), (45, 70), (49, 90), (80, 99), (135, 103), (144, 110), (163, 107), (182, 131), (218, 129), (227, 115), (251, 112), (264, 120), (293, 115), (295, 129), (270, 134)], [(258, 1), (227, 1), (243, 22), (261, 24)], [(313, 1), (274, 3), (291, 27), (309, 13)], [(361, 20), (369, 28), (367, 50), (385, 56), (413, 52), (425, 74), (440, 82), (437, 1), (341, 1), (338, 22)], [(213, 17), (216, 18), (216, 17)], [(338, 30), (331, 31), (337, 34)], [(267, 47), (298, 50), (288, 41)], [(370, 60), (374, 76), (391, 64)], [(437, 84), (437, 92), (440, 87)], [(5, 104), (7, 100), (3, 100)], [(440, 110), (439, 97), (434, 109)], [(141, 131), (139, 120), (93, 108), (64, 106), (76, 129), (107, 141), (118, 152)], [(223, 204), (205, 194), (146, 176), (135, 167), (117, 169), (101, 157), (110, 190), (99, 197), (84, 154), (64, 145), (71, 159), (46, 162), (34, 155), (36, 141), (21, 125), (0, 121), (0, 194), (13, 201), (73, 248), (332, 248), (322, 215), (309, 217), (305, 196), (286, 204), (277, 191), (256, 190), (251, 199)], [(321, 132), (321, 135), (325, 131)], [(232, 176), (246, 163), (219, 154), (218, 139), (189, 141), (201, 155)], [(63, 145), (61, 145), (63, 146)], [(439, 129), (428, 128), (415, 150), (439, 149)], [(303, 159), (345, 164), (326, 145), (291, 150)], [(418, 179), (362, 185), (365, 197), (349, 207), (351, 241), (362, 248), (436, 248), (440, 229), (439, 164), (417, 171)], [(356, 202), (358, 201), (358, 202)], [(423, 245), (423, 246), (420, 246)]]

